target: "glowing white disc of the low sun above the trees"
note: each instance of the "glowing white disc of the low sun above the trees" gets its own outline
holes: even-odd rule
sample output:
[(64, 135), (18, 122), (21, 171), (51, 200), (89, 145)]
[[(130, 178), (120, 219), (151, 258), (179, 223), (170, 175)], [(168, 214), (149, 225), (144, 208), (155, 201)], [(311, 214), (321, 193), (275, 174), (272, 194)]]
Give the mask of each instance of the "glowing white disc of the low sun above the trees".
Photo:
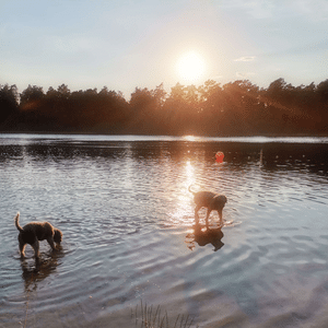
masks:
[(176, 69), (179, 79), (184, 82), (195, 83), (203, 78), (206, 65), (199, 54), (189, 51), (181, 55), (177, 61)]

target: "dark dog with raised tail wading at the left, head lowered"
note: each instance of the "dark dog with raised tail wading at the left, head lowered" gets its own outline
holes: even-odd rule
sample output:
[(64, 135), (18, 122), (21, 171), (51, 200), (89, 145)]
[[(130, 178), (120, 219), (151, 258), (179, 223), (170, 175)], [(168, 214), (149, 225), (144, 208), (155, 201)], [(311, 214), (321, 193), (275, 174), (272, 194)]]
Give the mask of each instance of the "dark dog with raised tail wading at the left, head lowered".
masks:
[(20, 253), (21, 257), (25, 257), (25, 246), (31, 245), (34, 249), (35, 258), (39, 258), (39, 241), (47, 241), (52, 250), (56, 250), (55, 243), (60, 245), (62, 233), (60, 230), (54, 227), (49, 222), (31, 222), (22, 227), (20, 225), (20, 212), (14, 218), (15, 226), (20, 231)]

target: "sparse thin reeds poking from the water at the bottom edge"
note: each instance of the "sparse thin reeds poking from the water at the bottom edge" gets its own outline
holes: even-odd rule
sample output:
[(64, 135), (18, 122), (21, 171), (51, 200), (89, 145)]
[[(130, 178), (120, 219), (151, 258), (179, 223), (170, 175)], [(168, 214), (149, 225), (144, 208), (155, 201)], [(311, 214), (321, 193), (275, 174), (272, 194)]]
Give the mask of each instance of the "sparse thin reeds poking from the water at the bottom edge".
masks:
[[(142, 301), (140, 306), (136, 305), (134, 312), (131, 311), (131, 317), (134, 317), (136, 328), (191, 328), (194, 318), (189, 315), (178, 315), (174, 321), (174, 326), (169, 324), (167, 312), (164, 313), (159, 305), (156, 308), (153, 305), (143, 305)], [(199, 326), (197, 325), (196, 328)]]

